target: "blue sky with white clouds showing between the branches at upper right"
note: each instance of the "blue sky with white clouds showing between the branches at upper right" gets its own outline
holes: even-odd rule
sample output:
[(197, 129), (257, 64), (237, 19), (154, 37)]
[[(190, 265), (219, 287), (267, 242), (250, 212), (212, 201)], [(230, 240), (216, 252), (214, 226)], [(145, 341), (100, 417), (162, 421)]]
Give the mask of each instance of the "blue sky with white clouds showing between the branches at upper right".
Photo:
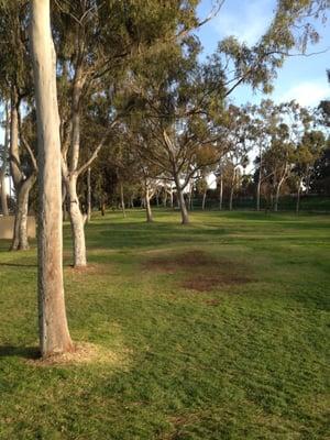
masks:
[[(276, 0), (226, 0), (219, 14), (205, 24), (198, 36), (206, 54), (217, 48), (224, 36), (234, 35), (248, 44), (255, 43), (272, 21)], [(198, 14), (206, 18), (212, 8), (212, 0), (201, 0)], [(321, 41), (308, 48), (320, 52), (330, 47), (330, 21), (326, 25), (317, 24)], [(289, 57), (274, 81), (274, 91), (270, 98), (275, 101), (296, 99), (302, 106), (317, 106), (321, 99), (330, 97), (326, 69), (330, 68), (330, 51), (310, 57)], [(249, 87), (240, 87), (231, 98), (235, 103), (258, 102), (264, 96), (252, 94)]]

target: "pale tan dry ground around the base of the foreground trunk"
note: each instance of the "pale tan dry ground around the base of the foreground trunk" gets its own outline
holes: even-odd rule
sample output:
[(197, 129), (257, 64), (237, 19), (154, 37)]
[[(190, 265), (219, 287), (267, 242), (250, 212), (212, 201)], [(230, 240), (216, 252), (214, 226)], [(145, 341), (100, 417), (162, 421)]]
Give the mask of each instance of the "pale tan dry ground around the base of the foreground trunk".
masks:
[(30, 359), (26, 363), (33, 366), (65, 366), (86, 363), (119, 365), (123, 363), (123, 355), (100, 345), (89, 342), (79, 342), (76, 343), (74, 350), (68, 353), (54, 354), (46, 359)]

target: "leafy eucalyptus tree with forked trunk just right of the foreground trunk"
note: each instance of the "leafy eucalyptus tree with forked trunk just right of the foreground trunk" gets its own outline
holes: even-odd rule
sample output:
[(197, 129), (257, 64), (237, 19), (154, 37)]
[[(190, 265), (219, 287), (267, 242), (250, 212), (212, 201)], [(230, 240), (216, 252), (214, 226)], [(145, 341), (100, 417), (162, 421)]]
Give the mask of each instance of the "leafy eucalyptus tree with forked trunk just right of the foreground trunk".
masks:
[[(78, 0), (54, 2), (54, 34), (64, 105), (61, 106), (63, 178), (67, 187), (74, 240), (74, 265), (86, 265), (84, 217), (77, 179), (108, 142), (117, 118), (113, 96), (132, 59), (145, 52), (162, 52), (184, 38), (199, 23), (195, 0)], [(80, 163), (81, 121), (88, 101), (108, 91), (109, 114), (102, 139), (90, 157)]]

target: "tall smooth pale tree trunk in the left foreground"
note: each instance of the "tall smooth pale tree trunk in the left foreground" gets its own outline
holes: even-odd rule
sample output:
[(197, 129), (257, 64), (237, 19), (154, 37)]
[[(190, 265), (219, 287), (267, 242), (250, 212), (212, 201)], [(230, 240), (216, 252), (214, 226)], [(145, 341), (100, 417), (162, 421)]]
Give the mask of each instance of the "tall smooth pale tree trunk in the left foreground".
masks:
[(73, 350), (65, 311), (62, 172), (56, 59), (50, 0), (31, 0), (31, 43), (38, 145), (38, 323), (43, 358)]

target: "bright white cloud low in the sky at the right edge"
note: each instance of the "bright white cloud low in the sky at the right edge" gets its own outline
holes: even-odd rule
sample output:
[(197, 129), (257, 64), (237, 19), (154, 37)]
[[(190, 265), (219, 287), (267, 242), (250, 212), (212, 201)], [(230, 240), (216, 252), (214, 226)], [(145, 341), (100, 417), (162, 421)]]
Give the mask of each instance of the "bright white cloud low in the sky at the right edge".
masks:
[(322, 99), (328, 99), (329, 95), (329, 86), (324, 81), (302, 81), (285, 91), (276, 101), (286, 102), (295, 99), (300, 106), (315, 107)]

